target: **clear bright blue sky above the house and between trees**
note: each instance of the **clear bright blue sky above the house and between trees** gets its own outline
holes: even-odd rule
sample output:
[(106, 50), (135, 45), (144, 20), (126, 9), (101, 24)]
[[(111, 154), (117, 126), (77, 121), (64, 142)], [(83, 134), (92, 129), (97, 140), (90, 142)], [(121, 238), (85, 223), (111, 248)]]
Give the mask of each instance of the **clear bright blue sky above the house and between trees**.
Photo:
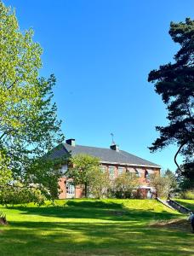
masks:
[(4, 0), (22, 31), (32, 27), (43, 47), (41, 75), (54, 73), (54, 101), (66, 138), (108, 148), (111, 132), (123, 150), (175, 170), (176, 147), (148, 146), (165, 106), (148, 73), (179, 49), (170, 21), (194, 18), (193, 0)]

